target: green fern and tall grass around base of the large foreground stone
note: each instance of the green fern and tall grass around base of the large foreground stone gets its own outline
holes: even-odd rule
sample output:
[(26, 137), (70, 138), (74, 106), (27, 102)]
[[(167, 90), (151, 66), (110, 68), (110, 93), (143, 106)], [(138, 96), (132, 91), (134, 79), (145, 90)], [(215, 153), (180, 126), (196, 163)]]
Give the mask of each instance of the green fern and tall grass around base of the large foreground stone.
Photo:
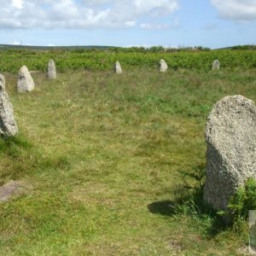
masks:
[(256, 210), (255, 179), (249, 178), (230, 198), (227, 209), (217, 212), (203, 200), (205, 166), (196, 166), (194, 170), (180, 173), (183, 177), (184, 192), (177, 197), (176, 204), (173, 205), (176, 214), (186, 212), (201, 224), (207, 219), (212, 223), (211, 229), (214, 232), (229, 229), (241, 232), (244, 229), (249, 211)]

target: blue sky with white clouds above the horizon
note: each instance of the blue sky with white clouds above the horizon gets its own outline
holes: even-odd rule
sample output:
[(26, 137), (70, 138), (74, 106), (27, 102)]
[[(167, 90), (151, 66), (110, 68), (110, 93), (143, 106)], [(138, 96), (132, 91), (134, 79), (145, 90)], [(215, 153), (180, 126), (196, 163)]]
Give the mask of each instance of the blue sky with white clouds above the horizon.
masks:
[(256, 44), (256, 0), (0, 0), (0, 44)]

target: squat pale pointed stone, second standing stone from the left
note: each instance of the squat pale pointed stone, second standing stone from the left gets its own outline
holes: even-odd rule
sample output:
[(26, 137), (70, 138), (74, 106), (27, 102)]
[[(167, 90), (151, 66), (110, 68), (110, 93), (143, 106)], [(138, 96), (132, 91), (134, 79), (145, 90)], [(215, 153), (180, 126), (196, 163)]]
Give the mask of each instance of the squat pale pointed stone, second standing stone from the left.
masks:
[(32, 76), (26, 66), (20, 67), (17, 88), (18, 92), (27, 92), (35, 88)]

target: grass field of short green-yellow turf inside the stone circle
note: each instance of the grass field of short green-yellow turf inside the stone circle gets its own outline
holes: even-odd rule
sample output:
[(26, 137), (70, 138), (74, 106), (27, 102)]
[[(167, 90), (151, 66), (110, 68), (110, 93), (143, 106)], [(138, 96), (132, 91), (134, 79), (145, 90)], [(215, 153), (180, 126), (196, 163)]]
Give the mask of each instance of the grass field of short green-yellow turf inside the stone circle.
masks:
[(4, 75), (20, 135), (1, 141), (0, 183), (26, 189), (0, 203), (1, 255), (237, 255), (247, 245), (247, 223), (218, 229), (177, 198), (180, 172), (205, 166), (213, 104), (256, 102), (255, 69), (33, 73), (36, 90), (22, 95)]

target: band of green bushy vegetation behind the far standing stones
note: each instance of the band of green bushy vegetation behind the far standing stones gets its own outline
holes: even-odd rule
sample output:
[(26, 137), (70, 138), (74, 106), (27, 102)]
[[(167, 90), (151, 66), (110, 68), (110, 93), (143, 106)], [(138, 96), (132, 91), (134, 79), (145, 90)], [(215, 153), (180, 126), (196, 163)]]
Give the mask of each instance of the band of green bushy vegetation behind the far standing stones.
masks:
[(0, 51), (0, 72), (17, 73), (21, 66), (30, 70), (45, 71), (47, 61), (55, 60), (58, 70), (88, 69), (110, 70), (115, 61), (125, 69), (132, 67), (156, 67), (160, 59), (165, 59), (171, 69), (188, 68), (210, 71), (212, 61), (218, 59), (222, 68), (234, 70), (256, 67), (255, 50), (205, 50), (164, 49), (161, 46), (144, 48), (110, 48), (110, 49), (5, 49)]

